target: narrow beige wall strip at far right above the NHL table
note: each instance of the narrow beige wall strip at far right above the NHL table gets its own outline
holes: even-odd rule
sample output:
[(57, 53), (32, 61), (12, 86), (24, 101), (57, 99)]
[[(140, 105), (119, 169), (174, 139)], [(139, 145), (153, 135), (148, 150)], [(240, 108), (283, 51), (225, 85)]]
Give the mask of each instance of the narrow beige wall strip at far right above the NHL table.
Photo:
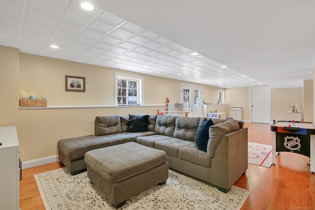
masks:
[(313, 119), (313, 80), (304, 80), (303, 83), (303, 119), (314, 122)]

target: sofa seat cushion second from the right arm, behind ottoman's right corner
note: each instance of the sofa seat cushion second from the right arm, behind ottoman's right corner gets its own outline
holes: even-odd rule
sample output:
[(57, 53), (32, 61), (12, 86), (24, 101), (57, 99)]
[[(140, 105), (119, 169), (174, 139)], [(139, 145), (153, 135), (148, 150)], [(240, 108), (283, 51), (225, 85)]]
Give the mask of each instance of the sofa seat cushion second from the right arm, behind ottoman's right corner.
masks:
[(154, 148), (158, 150), (163, 150), (166, 152), (166, 154), (171, 155), (173, 157), (178, 157), (178, 150), (181, 147), (188, 145), (194, 145), (194, 143), (178, 138), (170, 138), (156, 141)]

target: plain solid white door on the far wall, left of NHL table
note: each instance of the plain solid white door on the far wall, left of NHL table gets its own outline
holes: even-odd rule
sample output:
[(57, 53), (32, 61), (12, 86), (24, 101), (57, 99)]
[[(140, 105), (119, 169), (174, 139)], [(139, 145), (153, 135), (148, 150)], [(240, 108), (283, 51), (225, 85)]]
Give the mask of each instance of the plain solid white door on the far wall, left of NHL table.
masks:
[(251, 118), (252, 122), (270, 123), (271, 99), (270, 88), (251, 88)]

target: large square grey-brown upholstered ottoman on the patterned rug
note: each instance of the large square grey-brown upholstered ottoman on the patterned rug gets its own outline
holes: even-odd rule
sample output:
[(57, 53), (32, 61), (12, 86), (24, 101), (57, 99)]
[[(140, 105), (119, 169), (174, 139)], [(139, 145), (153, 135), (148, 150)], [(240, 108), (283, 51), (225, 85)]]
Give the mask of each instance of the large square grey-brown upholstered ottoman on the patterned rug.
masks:
[(166, 153), (134, 142), (88, 151), (84, 159), (90, 181), (116, 209), (168, 178)]

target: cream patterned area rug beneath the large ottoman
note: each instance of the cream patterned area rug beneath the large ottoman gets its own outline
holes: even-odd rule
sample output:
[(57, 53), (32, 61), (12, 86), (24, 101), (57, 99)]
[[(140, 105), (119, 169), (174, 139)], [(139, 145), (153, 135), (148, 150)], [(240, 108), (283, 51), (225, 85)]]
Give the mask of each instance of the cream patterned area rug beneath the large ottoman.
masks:
[[(87, 172), (72, 176), (66, 168), (34, 175), (46, 210), (114, 210), (92, 184)], [(169, 170), (166, 184), (127, 200), (122, 210), (240, 210), (248, 190), (232, 186), (228, 193)]]

